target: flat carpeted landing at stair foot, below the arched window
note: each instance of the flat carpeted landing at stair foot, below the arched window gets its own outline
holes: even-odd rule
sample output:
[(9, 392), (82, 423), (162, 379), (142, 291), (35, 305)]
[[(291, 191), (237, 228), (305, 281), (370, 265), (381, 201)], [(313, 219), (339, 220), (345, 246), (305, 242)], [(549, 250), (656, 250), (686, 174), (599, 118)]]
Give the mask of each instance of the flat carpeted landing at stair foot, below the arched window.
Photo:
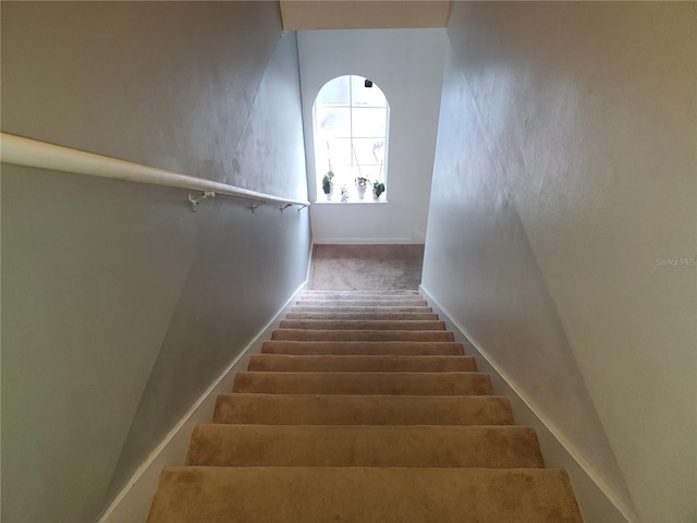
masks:
[(418, 289), (424, 245), (315, 245), (309, 289)]

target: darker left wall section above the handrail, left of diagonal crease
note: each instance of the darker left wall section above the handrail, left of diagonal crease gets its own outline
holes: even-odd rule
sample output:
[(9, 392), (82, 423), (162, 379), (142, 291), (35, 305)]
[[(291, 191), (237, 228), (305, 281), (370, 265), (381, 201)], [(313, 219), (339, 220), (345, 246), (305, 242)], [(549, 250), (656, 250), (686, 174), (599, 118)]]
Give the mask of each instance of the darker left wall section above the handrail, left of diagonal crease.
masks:
[(4, 132), (239, 181), (278, 2), (10, 1), (2, 17)]

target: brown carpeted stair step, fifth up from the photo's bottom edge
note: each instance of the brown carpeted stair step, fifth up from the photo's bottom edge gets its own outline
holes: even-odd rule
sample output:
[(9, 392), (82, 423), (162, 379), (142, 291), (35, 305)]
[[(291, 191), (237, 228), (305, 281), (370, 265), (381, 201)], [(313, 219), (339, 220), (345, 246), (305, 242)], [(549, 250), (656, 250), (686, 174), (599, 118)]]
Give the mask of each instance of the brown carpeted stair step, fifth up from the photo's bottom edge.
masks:
[(252, 372), (274, 373), (454, 373), (476, 372), (472, 356), (298, 356), (255, 354)]

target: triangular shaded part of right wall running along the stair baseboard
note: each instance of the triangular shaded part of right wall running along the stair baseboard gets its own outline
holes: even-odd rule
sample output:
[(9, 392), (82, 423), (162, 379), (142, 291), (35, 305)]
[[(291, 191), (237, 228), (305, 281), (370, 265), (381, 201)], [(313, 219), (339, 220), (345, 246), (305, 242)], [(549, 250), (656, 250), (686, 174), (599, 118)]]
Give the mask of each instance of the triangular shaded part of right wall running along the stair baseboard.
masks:
[[(424, 288), (536, 414), (632, 511), (622, 472), (451, 52)], [(456, 228), (453, 224), (457, 224)]]

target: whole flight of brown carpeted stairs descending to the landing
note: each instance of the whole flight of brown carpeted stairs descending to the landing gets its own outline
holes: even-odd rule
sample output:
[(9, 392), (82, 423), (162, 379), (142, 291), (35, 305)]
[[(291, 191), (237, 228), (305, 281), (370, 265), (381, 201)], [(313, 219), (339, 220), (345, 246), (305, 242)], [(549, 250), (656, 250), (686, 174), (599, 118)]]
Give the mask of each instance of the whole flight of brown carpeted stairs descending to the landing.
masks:
[(149, 523), (580, 522), (415, 291), (306, 291), (162, 472)]

